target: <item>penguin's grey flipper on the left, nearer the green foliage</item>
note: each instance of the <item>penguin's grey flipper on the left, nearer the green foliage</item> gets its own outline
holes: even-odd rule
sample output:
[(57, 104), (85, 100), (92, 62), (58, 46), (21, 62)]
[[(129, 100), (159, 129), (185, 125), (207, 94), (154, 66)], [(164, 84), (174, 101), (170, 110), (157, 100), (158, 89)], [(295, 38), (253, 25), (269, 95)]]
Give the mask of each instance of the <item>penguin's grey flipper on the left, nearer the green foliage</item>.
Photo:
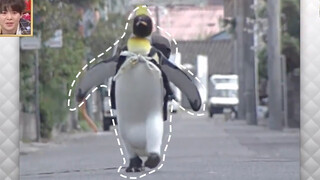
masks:
[(101, 61), (85, 73), (77, 86), (77, 101), (82, 101), (91, 88), (104, 84), (106, 79), (115, 74), (118, 58), (119, 56), (113, 56)]

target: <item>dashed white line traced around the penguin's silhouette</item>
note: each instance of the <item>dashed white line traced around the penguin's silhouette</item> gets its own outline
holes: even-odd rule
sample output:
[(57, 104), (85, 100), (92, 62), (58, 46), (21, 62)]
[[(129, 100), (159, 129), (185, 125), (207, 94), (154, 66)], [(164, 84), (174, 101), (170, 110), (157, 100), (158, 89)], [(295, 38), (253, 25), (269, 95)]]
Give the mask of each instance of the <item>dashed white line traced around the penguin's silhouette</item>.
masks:
[[(144, 6), (142, 6), (142, 7), (146, 7), (146, 5), (144, 5)], [(130, 15), (129, 15), (129, 17), (128, 17), (128, 21), (130, 21), (131, 17), (133, 16), (133, 13), (136, 12), (138, 9), (139, 9), (139, 7), (135, 8), (134, 11), (133, 11), (132, 13), (130, 13)], [(149, 14), (152, 14), (149, 9), (147, 9), (147, 10), (148, 10)], [(153, 19), (153, 20), (154, 20), (154, 19)], [(154, 23), (155, 23), (155, 21), (154, 21)], [(126, 35), (126, 30), (127, 30), (127, 28), (128, 28), (128, 25), (129, 25), (129, 23), (126, 22), (125, 32), (122, 34), (121, 39), (123, 39), (123, 38), (125, 37), (125, 35)], [(168, 33), (167, 31), (165, 31), (163, 28), (161, 28), (161, 27), (159, 27), (159, 26), (157, 26), (157, 28), (158, 28), (159, 30), (161, 30), (161, 31), (164, 31), (169, 37), (172, 37), (172, 35), (171, 35), (170, 33)], [(177, 41), (176, 41), (174, 38), (172, 38), (172, 41), (173, 41), (174, 44), (177, 46)], [(116, 46), (119, 42), (120, 42), (120, 40), (115, 41), (115, 43), (113, 44), (113, 47)], [(105, 52), (110, 51), (113, 47), (110, 46), (108, 49), (105, 50)], [(179, 52), (179, 49), (178, 49), (178, 47), (176, 47), (176, 54), (177, 54), (178, 52)], [(100, 57), (103, 56), (104, 54), (105, 54), (105, 53), (102, 52), (101, 54), (99, 54), (99, 55), (97, 56), (97, 58), (100, 58)], [(91, 59), (91, 60), (89, 61), (89, 64), (93, 63), (95, 60), (96, 60), (96, 58)], [(184, 66), (182, 66), (182, 65), (178, 65), (178, 66), (182, 67), (183, 69), (186, 69), (186, 68), (185, 68)], [(83, 68), (82, 68), (82, 71), (84, 71), (87, 67), (88, 67), (88, 64), (84, 65)], [(193, 74), (191, 71), (187, 71), (187, 72), (188, 72), (191, 76), (194, 76), (194, 74)], [(76, 79), (74, 79), (74, 80), (72, 81), (71, 88), (70, 88), (69, 94), (68, 94), (68, 95), (69, 95), (69, 98), (68, 98), (68, 107), (70, 107), (70, 96), (71, 96), (71, 93), (72, 93), (72, 88), (74, 87), (74, 84), (75, 84), (76, 80), (79, 78), (79, 76), (81, 75), (81, 73), (82, 73), (81, 71), (78, 72), (78, 74), (76, 75)], [(202, 85), (202, 83), (201, 83), (201, 81), (200, 81), (199, 78), (195, 77), (195, 79)], [(100, 85), (100, 87), (101, 87), (101, 88), (107, 88), (107, 89), (108, 89), (108, 87), (107, 87), (106, 85)], [(204, 88), (203, 85), (202, 85), (202, 87)], [(95, 87), (95, 88), (92, 90), (92, 93), (94, 93), (97, 89), (98, 89), (98, 87)], [(109, 90), (108, 90), (108, 96), (110, 96), (110, 91), (109, 91)], [(91, 97), (91, 94), (88, 94), (85, 99), (88, 100), (90, 97)], [(186, 109), (183, 108), (178, 102), (176, 102), (176, 101), (174, 101), (174, 100), (173, 100), (173, 102), (176, 103), (176, 104), (178, 104), (180, 109), (182, 109), (183, 111), (186, 111)], [(78, 105), (78, 107), (80, 108), (83, 104), (84, 104), (84, 101), (81, 102), (81, 103)], [(110, 98), (109, 98), (109, 106), (111, 106), (111, 99), (110, 99)], [(70, 110), (70, 111), (75, 111), (76, 109), (77, 109), (77, 107), (75, 107), (75, 108), (70, 108), (69, 110)], [(203, 104), (203, 111), (205, 112), (205, 104)], [(172, 113), (172, 112), (173, 112), (173, 106), (171, 106), (171, 113)], [(204, 115), (205, 115), (204, 113), (195, 114), (195, 113), (190, 112), (190, 111), (186, 111), (186, 112), (187, 112), (188, 114), (190, 114), (190, 115), (193, 115), (193, 116), (204, 116)], [(113, 110), (111, 110), (111, 115), (113, 116)], [(165, 148), (164, 148), (164, 150), (163, 150), (164, 152), (167, 152), (168, 146), (169, 146), (169, 143), (170, 143), (171, 137), (172, 137), (172, 135), (171, 135), (171, 133), (172, 133), (172, 114), (170, 114), (170, 116), (169, 116), (169, 123), (170, 123), (170, 124), (169, 124), (169, 136), (168, 136), (168, 139), (167, 139), (167, 144), (165, 145)], [(114, 119), (112, 119), (112, 125), (113, 125), (114, 127), (116, 126)], [(123, 160), (123, 165), (125, 165), (125, 164), (126, 164), (126, 159), (125, 159), (125, 157), (124, 157), (123, 148), (121, 147), (121, 143), (120, 143), (120, 139), (119, 139), (119, 134), (118, 134), (117, 128), (114, 128), (114, 132), (115, 132), (115, 135), (116, 135), (116, 138), (117, 138), (118, 146), (120, 146), (119, 149), (120, 149), (120, 154), (121, 154), (121, 156), (123, 157), (123, 158), (122, 158), (122, 160)], [(164, 154), (162, 155), (162, 161), (165, 162), (165, 160), (166, 160), (166, 154), (164, 153)], [(157, 169), (160, 170), (160, 169), (163, 167), (163, 165), (164, 165), (164, 164), (161, 163), (161, 164), (158, 166)], [(117, 172), (120, 173), (120, 171), (121, 171), (122, 168), (123, 168), (123, 166), (119, 166)], [(154, 172), (156, 172), (156, 169), (150, 171), (148, 174), (152, 174), (152, 173), (154, 173)], [(139, 177), (136, 177), (136, 176), (126, 176), (126, 175), (120, 173), (120, 177), (125, 178), (125, 179), (127, 179), (127, 178), (129, 178), (129, 179), (143, 178), (143, 177), (145, 177), (146, 175), (147, 175), (147, 173), (142, 174), (142, 175), (140, 175)]]

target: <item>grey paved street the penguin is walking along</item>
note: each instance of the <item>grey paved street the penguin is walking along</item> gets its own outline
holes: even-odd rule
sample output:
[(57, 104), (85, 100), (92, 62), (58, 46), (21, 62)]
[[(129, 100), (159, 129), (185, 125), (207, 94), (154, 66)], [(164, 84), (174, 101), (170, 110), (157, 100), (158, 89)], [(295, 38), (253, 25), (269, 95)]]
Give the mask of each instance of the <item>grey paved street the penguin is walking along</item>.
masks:
[[(163, 148), (169, 124), (165, 123)], [(179, 112), (163, 167), (149, 174), (126, 173), (114, 131), (72, 135), (61, 144), (21, 153), (21, 180), (197, 179), (298, 180), (299, 130), (271, 131), (245, 121), (225, 122)], [(22, 149), (23, 151), (23, 149)], [(128, 159), (127, 159), (128, 165)]]

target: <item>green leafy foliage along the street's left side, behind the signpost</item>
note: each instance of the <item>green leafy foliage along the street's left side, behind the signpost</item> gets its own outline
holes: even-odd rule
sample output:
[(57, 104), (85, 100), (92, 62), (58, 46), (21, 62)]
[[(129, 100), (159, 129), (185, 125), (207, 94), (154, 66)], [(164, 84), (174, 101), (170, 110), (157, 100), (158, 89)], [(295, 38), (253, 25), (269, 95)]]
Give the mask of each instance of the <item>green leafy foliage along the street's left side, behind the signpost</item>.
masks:
[[(87, 62), (86, 51), (96, 56), (113, 45), (124, 32), (126, 17), (110, 14), (109, 21), (99, 21), (92, 35), (84, 37), (79, 31), (81, 7), (99, 10), (104, 0), (41, 0), (34, 2), (34, 30), (41, 32), (42, 44), (57, 29), (63, 31), (63, 47), (39, 50), (41, 136), (50, 138), (54, 126), (63, 124), (69, 112), (68, 90), (73, 79)], [(90, 48), (89, 48), (90, 47)], [(110, 57), (108, 54), (105, 57)], [(22, 111), (34, 111), (33, 51), (21, 51), (21, 105)], [(74, 89), (71, 96), (74, 96)], [(75, 106), (75, 105), (72, 105)]]

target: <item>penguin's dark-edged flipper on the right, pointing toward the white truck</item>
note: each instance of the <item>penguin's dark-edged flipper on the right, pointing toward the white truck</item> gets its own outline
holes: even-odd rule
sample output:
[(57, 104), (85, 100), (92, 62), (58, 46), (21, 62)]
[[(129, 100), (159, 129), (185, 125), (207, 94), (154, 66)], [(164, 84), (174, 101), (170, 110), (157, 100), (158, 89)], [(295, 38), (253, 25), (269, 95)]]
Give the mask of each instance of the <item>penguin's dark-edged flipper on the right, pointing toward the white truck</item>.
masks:
[(189, 100), (194, 111), (201, 108), (201, 97), (194, 81), (180, 68), (171, 63), (166, 58), (161, 58), (162, 71), (166, 74), (169, 81), (176, 85)]

